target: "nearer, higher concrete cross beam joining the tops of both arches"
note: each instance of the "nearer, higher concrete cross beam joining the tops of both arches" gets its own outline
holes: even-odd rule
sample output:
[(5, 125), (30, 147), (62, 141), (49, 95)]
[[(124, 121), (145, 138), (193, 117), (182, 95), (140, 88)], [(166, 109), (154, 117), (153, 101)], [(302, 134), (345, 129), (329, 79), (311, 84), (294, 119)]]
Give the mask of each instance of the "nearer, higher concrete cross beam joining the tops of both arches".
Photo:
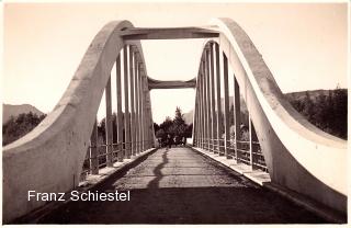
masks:
[(128, 27), (122, 33), (124, 41), (212, 38), (218, 36), (217, 31), (205, 27)]

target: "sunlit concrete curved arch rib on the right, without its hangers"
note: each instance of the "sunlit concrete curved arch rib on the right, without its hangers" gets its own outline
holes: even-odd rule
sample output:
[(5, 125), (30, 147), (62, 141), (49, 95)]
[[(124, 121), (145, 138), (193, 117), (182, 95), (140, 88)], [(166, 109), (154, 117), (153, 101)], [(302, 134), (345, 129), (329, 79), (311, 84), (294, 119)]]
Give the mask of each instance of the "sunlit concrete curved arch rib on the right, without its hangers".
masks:
[(216, 19), (211, 25), (219, 37), (207, 42), (217, 42), (228, 58), (272, 182), (346, 214), (347, 141), (318, 129), (293, 109), (236, 22)]

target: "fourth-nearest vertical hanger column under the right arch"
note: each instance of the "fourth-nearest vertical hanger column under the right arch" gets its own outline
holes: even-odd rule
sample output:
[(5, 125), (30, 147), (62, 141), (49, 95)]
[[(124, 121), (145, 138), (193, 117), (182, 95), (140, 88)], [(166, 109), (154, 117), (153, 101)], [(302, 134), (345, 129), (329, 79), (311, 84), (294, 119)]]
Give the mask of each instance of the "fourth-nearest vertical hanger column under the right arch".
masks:
[(218, 140), (218, 153), (222, 148), (222, 99), (220, 99), (220, 65), (219, 65), (219, 45), (215, 43), (215, 58), (216, 58), (216, 104), (217, 104), (217, 140)]

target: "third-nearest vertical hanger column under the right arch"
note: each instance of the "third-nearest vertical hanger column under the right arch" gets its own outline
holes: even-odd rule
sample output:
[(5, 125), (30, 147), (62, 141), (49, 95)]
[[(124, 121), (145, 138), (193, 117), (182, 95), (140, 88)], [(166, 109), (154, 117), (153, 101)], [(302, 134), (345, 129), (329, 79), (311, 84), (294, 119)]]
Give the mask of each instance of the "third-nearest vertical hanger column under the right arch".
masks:
[(228, 89), (228, 59), (223, 53), (223, 79), (224, 79), (224, 129), (225, 129), (225, 156), (228, 157), (230, 126), (229, 126), (229, 89)]

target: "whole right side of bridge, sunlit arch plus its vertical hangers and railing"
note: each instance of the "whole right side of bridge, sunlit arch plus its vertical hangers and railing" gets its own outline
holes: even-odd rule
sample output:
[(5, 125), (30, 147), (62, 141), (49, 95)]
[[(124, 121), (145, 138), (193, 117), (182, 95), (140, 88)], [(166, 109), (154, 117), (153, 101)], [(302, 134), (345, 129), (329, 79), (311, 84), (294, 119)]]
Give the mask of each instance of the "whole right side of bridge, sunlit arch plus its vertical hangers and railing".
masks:
[[(347, 141), (313, 126), (294, 110), (236, 22), (217, 19), (212, 29), (219, 36), (206, 39), (199, 62), (193, 146), (269, 172), (275, 185), (346, 214)], [(248, 139), (240, 138), (240, 95), (249, 114)]]

